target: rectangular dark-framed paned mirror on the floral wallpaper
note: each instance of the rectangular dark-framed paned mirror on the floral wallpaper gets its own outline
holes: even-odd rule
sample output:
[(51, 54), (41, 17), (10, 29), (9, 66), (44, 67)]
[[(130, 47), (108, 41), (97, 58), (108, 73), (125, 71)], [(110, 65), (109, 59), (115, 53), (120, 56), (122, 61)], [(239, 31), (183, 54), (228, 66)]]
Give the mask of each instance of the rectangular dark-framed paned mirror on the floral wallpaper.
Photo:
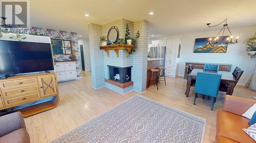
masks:
[(72, 45), (70, 40), (51, 39), (53, 52), (56, 54), (71, 54)]

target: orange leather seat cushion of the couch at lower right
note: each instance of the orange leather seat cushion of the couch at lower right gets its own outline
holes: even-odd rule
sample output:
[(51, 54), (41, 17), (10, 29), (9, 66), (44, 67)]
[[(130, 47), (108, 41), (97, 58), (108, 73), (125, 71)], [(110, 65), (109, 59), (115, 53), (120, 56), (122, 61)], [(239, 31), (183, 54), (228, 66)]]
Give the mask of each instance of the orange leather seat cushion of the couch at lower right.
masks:
[(254, 142), (244, 131), (249, 127), (249, 119), (227, 111), (218, 111), (216, 135), (224, 136), (237, 142)]

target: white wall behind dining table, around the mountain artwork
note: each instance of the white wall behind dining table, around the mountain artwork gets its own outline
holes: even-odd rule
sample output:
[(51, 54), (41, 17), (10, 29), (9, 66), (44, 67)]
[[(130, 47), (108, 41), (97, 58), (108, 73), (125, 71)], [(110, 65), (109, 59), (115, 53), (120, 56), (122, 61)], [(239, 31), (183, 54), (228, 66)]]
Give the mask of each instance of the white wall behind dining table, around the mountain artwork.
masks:
[(234, 28), (230, 31), (233, 36), (239, 36), (239, 43), (228, 45), (227, 53), (193, 52), (196, 38), (214, 37), (219, 31), (183, 34), (178, 75), (184, 76), (185, 62), (232, 64), (233, 66), (231, 71), (233, 71), (237, 66), (244, 70), (244, 73), (238, 83), (240, 85), (244, 85), (253, 73), (256, 58), (251, 59), (250, 56), (247, 55), (243, 42), (250, 36), (254, 35), (256, 32), (256, 26)]

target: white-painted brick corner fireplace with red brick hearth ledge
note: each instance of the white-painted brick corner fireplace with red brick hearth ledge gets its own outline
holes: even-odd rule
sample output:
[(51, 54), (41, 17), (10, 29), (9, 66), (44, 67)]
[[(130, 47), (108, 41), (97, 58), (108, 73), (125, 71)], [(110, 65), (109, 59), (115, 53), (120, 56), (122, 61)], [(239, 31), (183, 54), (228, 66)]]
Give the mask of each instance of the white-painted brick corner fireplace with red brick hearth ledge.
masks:
[[(124, 39), (126, 23), (129, 24), (131, 37), (134, 38), (136, 32), (140, 32), (136, 51), (126, 57), (125, 49), (120, 49), (117, 57), (114, 50), (109, 50), (109, 55), (104, 50), (100, 50), (99, 37), (106, 36), (110, 27), (117, 26), (119, 38)], [(93, 88), (107, 87), (122, 94), (131, 90), (140, 93), (146, 90), (148, 25), (146, 20), (132, 22), (125, 19), (104, 25), (93, 23), (88, 25)], [(120, 75), (120, 73), (124, 74)], [(127, 75), (131, 75), (128, 80)]]

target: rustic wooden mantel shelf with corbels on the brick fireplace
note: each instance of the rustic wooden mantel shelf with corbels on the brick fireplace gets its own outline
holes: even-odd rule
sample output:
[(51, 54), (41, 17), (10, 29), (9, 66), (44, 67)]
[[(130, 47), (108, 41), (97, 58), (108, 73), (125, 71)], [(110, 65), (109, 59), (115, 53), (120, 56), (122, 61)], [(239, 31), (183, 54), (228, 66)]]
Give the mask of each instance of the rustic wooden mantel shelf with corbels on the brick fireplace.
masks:
[(119, 49), (128, 49), (126, 52), (126, 57), (129, 56), (129, 52), (131, 51), (132, 48), (136, 48), (135, 45), (127, 45), (127, 44), (122, 44), (122, 45), (106, 45), (106, 46), (100, 46), (101, 50), (104, 50), (106, 52), (107, 56), (110, 56), (110, 51), (109, 50), (114, 50), (116, 52), (116, 56), (119, 57)]

